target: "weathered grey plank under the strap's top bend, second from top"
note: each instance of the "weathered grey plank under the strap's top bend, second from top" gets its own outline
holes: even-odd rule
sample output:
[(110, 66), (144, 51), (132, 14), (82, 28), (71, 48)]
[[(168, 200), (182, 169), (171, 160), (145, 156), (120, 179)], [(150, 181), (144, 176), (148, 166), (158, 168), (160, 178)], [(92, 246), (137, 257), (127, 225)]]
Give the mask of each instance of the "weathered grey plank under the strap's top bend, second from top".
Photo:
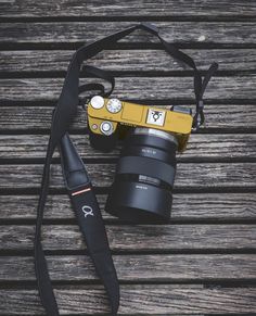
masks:
[[(155, 22), (161, 35), (170, 42), (233, 45), (256, 42), (254, 22)], [(1, 23), (0, 43), (89, 43), (112, 33), (130, 27), (135, 22), (48, 22)], [(155, 42), (149, 33), (138, 30), (121, 42)], [(5, 47), (8, 48), (8, 47)]]

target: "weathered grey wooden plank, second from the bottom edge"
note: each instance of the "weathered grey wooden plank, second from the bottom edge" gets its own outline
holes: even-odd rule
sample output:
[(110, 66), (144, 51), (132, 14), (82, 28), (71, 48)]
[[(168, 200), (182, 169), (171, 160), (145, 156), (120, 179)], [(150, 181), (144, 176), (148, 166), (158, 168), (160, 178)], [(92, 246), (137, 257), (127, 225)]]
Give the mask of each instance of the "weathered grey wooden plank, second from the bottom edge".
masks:
[[(119, 281), (241, 281), (256, 280), (256, 255), (114, 255)], [(87, 255), (47, 256), (52, 281), (93, 281), (95, 275)], [(35, 281), (34, 257), (0, 257), (0, 281)]]

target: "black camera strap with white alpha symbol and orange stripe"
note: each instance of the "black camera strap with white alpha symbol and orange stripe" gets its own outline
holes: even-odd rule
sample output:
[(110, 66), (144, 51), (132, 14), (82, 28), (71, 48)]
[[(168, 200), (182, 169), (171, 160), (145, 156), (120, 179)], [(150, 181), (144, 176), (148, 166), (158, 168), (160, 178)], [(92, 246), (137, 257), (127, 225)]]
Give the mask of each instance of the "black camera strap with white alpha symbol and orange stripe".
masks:
[(212, 64), (203, 79), (195, 66), (194, 61), (189, 55), (181, 52), (174, 45), (165, 41), (159, 36), (158, 30), (154, 25), (142, 23), (129, 27), (104, 37), (95, 42), (84, 46), (74, 53), (67, 69), (59, 102), (52, 116), (50, 139), (48, 142), (47, 156), (41, 179), (40, 198), (37, 208), (35, 233), (35, 270), (40, 299), (48, 316), (60, 315), (41, 244), (41, 225), (43, 219), (43, 208), (49, 190), (50, 166), (56, 147), (59, 147), (61, 150), (65, 185), (71, 197), (78, 224), (85, 237), (87, 249), (92, 257), (97, 273), (106, 289), (106, 293), (111, 303), (111, 314), (117, 315), (119, 305), (119, 287), (116, 270), (111, 256), (104, 224), (99, 211), (90, 179), (86, 172), (86, 167), (80, 160), (75, 147), (73, 146), (67, 135), (67, 130), (74, 115), (77, 112), (79, 104), (78, 96), (81, 91), (98, 89), (102, 94), (106, 96), (112, 92), (115, 85), (114, 78), (110, 75), (110, 73), (87, 65), (84, 68), (86, 73), (107, 80), (111, 83), (112, 89), (106, 93), (104, 91), (104, 87), (100, 84), (87, 84), (79, 87), (79, 72), (82, 62), (94, 56), (97, 53), (110, 47), (111, 45), (114, 45), (116, 41), (129, 35), (136, 29), (144, 29), (157, 36), (164, 49), (171, 56), (185, 63), (194, 71), (196, 111), (194, 115), (193, 127), (197, 128), (204, 122), (203, 94), (208, 80), (218, 67), (217, 64)]

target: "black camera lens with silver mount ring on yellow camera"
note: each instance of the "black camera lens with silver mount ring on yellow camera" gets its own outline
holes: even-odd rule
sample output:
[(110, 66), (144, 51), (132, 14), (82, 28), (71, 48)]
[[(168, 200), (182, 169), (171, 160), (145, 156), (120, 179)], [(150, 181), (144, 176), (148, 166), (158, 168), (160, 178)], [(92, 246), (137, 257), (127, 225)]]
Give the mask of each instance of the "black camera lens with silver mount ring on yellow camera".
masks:
[(168, 223), (177, 147), (176, 137), (166, 131), (132, 130), (124, 143), (105, 211), (139, 224)]

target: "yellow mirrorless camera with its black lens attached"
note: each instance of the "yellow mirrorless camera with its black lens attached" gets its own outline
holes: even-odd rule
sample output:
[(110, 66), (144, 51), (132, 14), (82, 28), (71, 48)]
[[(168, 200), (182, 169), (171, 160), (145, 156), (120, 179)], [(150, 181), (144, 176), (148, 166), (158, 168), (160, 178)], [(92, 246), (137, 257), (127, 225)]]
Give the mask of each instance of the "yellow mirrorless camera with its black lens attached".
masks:
[(140, 224), (168, 223), (176, 152), (189, 140), (191, 110), (170, 110), (93, 97), (88, 128), (93, 148), (110, 151), (124, 140), (105, 211)]

